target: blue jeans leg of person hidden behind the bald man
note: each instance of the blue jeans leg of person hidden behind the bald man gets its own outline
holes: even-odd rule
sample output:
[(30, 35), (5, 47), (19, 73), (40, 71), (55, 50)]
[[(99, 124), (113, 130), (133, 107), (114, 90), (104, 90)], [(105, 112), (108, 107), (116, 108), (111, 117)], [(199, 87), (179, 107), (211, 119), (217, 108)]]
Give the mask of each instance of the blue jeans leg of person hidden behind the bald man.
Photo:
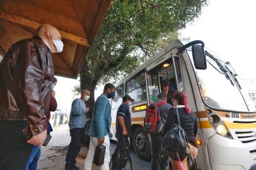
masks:
[(40, 154), (41, 154), (40, 147), (33, 145), (30, 157), (28, 158), (28, 162), (26, 163), (25, 170), (37, 169), (37, 162), (39, 160)]

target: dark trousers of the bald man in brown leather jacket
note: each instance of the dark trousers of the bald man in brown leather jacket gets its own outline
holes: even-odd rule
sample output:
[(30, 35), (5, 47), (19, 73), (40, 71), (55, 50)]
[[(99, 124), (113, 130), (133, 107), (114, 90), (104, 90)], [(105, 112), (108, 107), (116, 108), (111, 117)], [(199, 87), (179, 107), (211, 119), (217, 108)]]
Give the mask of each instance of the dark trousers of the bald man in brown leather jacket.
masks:
[(0, 170), (25, 169), (32, 150), (22, 130), (27, 121), (0, 120)]

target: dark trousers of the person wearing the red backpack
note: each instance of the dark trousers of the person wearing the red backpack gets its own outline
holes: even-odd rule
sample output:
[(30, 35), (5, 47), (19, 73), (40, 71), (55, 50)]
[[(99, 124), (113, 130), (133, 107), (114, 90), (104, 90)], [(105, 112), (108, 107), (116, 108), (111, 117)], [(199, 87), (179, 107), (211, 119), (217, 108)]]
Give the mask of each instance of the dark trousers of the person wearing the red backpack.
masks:
[(151, 170), (168, 170), (169, 158), (161, 154), (162, 134), (151, 134)]

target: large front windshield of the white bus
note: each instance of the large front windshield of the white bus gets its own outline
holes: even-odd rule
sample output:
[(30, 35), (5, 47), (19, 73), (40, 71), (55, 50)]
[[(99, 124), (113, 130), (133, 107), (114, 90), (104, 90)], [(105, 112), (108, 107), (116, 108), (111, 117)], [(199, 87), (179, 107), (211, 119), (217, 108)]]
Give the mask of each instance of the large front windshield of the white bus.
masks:
[[(192, 61), (192, 52), (190, 50), (187, 50), (187, 52)], [(242, 86), (241, 89), (239, 88), (240, 84), (235, 81), (234, 75), (226, 71), (226, 67), (218, 62), (219, 59), (213, 59), (210, 55), (209, 53), (206, 54), (206, 70), (199, 70), (194, 67), (204, 103), (218, 110), (256, 111), (248, 93), (244, 91)], [(194, 65), (194, 62), (192, 62), (192, 65)]]

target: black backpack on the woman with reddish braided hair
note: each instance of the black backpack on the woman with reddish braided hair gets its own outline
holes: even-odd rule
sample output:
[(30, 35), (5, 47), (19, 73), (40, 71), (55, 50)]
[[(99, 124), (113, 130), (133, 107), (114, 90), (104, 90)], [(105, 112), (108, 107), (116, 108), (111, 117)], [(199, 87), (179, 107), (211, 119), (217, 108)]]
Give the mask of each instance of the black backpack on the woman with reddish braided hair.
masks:
[(174, 126), (166, 132), (162, 139), (162, 144), (173, 160), (178, 161), (178, 159), (180, 159), (180, 161), (183, 161), (187, 156), (188, 139), (183, 128), (180, 127), (180, 115), (178, 109), (175, 109), (177, 111), (178, 125), (175, 123)]

